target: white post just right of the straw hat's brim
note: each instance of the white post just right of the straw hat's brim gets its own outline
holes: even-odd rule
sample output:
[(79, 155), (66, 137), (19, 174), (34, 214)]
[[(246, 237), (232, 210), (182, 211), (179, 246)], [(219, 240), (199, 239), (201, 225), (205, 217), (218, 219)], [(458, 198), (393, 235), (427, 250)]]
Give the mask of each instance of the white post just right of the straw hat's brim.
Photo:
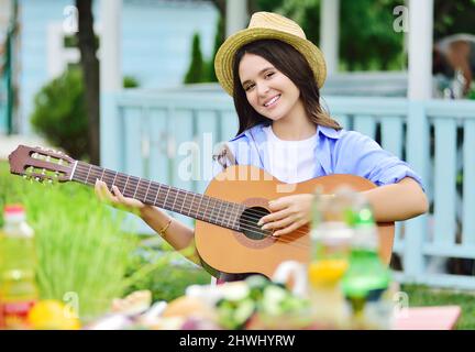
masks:
[(340, 42), (340, 0), (323, 0), (320, 8), (320, 48), (328, 75), (338, 72)]

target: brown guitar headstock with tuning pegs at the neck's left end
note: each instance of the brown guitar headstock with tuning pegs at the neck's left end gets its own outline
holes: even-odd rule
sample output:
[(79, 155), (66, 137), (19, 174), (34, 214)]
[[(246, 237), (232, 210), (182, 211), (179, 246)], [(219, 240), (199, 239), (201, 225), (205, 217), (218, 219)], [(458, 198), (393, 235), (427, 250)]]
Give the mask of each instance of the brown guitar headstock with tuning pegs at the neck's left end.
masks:
[(10, 173), (37, 182), (68, 182), (76, 161), (63, 152), (19, 145), (9, 155)]

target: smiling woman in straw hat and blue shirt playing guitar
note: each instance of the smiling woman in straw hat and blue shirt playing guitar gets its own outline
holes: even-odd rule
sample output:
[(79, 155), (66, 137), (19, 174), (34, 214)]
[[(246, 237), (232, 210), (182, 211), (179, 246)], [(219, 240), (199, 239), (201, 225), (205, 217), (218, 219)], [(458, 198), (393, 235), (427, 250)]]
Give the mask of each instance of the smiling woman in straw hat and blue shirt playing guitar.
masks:
[[(228, 143), (241, 165), (264, 168), (286, 183), (329, 174), (354, 174), (380, 186), (365, 191), (377, 221), (405, 220), (427, 211), (421, 180), (410, 167), (367, 136), (344, 131), (320, 107), (325, 79), (323, 55), (297, 23), (257, 12), (246, 30), (230, 36), (217, 53), (214, 67), (224, 90), (234, 98), (238, 135)], [(214, 163), (213, 174), (222, 170)], [(139, 209), (141, 217), (175, 249), (194, 242), (194, 230), (155, 207), (111, 194), (98, 182), (99, 197)], [(269, 204), (263, 229), (289, 233), (310, 220), (312, 195), (283, 196)], [(198, 262), (197, 256), (194, 260)]]

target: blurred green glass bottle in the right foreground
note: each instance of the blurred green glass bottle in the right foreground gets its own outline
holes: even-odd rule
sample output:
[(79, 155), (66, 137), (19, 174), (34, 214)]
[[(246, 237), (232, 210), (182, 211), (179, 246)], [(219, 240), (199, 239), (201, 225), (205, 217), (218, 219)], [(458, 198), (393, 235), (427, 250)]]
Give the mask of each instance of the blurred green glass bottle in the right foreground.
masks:
[(373, 211), (357, 194), (350, 266), (342, 279), (351, 302), (354, 329), (390, 329), (393, 288), (390, 271), (379, 256), (379, 241)]

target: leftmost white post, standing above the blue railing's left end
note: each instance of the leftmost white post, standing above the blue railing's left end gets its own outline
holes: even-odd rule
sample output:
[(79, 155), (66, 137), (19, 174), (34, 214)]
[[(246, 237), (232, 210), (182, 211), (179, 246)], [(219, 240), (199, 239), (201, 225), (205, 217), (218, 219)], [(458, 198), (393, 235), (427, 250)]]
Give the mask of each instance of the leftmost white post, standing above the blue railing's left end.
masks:
[(100, 87), (102, 92), (122, 88), (122, 0), (101, 0)]

